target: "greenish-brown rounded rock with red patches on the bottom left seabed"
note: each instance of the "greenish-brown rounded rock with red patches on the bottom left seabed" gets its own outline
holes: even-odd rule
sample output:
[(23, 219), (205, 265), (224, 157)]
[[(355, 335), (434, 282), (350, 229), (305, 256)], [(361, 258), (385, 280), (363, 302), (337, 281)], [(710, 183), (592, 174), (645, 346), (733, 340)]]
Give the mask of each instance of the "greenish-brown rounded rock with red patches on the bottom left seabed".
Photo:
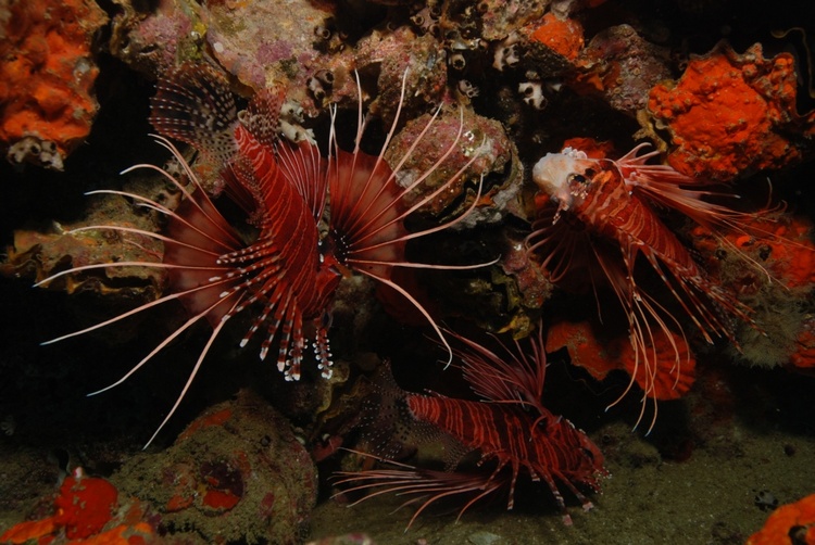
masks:
[(256, 394), (215, 405), (166, 451), (141, 454), (115, 476), (155, 506), (163, 532), (288, 543), (302, 535), (317, 494), (311, 456), (291, 424)]

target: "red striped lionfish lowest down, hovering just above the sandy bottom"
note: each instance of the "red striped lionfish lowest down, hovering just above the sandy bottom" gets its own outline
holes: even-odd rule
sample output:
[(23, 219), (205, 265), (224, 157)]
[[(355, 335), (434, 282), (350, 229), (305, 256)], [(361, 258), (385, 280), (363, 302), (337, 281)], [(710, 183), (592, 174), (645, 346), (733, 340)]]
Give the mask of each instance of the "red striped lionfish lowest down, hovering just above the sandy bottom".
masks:
[[(374, 421), (369, 435), (380, 442), (376, 449), (384, 453), (384, 461), (397, 469), (343, 471), (338, 473), (340, 479), (336, 483), (350, 484), (346, 492), (373, 491), (352, 506), (387, 493), (414, 496), (404, 504), (421, 502), (408, 523), (410, 528), (428, 506), (450, 496), (473, 496), (461, 508), (459, 518), (479, 499), (500, 491), (507, 492), (507, 509), (512, 509), (515, 483), (519, 474), (526, 473), (532, 481), (542, 480), (547, 484), (563, 514), (563, 521), (570, 524), (559, 485), (568, 489), (584, 509), (589, 510), (593, 505), (577, 486), (599, 492), (599, 480), (607, 476), (607, 471), (603, 468), (602, 453), (588, 435), (541, 403), (547, 370), (542, 328), (537, 339), (530, 341), (531, 354), (525, 354), (517, 341), (514, 351), (501, 344), (507, 357), (452, 334), (464, 345), (464, 348), (453, 350), (461, 362), (463, 377), (481, 401), (432, 392), (430, 395), (404, 392), (387, 368), (384, 384), (379, 386), (383, 397), (391, 397), (391, 403), (400, 405), (397, 410), (406, 414), (411, 420), (408, 428), (413, 424), (421, 429), (419, 433), (446, 441), (450, 453), (447, 470), (421, 469), (387, 460), (396, 445), (387, 438), (380, 441), (380, 428), (387, 428), (390, 422)], [(381, 406), (377, 417), (390, 418)], [(461, 459), (471, 452), (480, 454), (479, 467), (494, 461), (494, 469), (456, 471)]]

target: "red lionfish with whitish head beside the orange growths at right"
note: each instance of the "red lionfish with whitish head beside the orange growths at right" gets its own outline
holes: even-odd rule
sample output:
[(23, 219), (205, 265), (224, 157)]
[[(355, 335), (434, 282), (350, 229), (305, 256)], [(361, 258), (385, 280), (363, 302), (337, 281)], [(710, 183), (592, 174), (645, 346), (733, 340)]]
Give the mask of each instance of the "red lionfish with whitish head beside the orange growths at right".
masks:
[[(678, 211), (714, 236), (726, 231), (773, 236), (750, 227), (754, 214), (704, 201), (703, 198), (710, 195), (725, 197), (707, 190), (710, 183), (684, 176), (667, 165), (648, 164), (659, 153), (639, 154), (648, 145), (637, 145), (616, 161), (589, 159), (585, 152), (572, 148), (544, 155), (535, 165), (532, 179), (551, 204), (540, 211), (532, 224), (532, 233), (527, 238), (528, 251), (541, 256), (541, 265), (550, 271), (554, 282), (582, 268), (595, 289), (600, 279), (604, 279), (619, 300), (635, 354), (631, 381), (620, 398), (637, 380), (643, 390), (638, 423), (649, 396), (655, 408), (654, 384), (660, 372), (657, 344), (667, 341), (674, 353), (673, 362), (667, 362), (676, 376), (674, 386), (680, 379), (682, 354), (686, 363), (690, 357), (678, 319), (635, 280), (635, 264), (640, 255), (659, 274), (707, 342), (712, 343), (712, 334), (716, 334), (738, 346), (734, 318), (756, 327), (750, 317), (751, 309), (711, 280), (690, 251), (663, 224), (653, 205)], [(764, 270), (757, 263), (752, 265)], [(680, 337), (674, 335), (672, 327)], [(639, 366), (644, 378), (637, 378)], [(655, 419), (654, 409), (649, 431)]]

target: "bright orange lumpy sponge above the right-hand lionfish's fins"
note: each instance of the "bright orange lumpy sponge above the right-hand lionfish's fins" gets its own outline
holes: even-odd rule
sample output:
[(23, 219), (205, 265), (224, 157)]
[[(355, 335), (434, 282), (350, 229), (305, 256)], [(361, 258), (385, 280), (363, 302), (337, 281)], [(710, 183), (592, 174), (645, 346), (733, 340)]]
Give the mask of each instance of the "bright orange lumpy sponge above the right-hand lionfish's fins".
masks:
[(795, 86), (791, 54), (765, 59), (756, 43), (740, 55), (723, 42), (692, 59), (676, 84), (656, 85), (648, 110), (672, 135), (674, 168), (727, 181), (800, 160), (808, 144), (795, 138)]

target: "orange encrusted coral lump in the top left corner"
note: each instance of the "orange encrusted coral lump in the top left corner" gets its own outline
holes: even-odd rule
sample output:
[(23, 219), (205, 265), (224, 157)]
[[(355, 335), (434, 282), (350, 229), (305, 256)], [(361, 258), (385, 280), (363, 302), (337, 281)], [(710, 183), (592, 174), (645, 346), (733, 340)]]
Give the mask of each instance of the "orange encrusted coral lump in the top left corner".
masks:
[(108, 22), (89, 0), (0, 7), (0, 145), (13, 164), (61, 170), (90, 132), (97, 30)]

